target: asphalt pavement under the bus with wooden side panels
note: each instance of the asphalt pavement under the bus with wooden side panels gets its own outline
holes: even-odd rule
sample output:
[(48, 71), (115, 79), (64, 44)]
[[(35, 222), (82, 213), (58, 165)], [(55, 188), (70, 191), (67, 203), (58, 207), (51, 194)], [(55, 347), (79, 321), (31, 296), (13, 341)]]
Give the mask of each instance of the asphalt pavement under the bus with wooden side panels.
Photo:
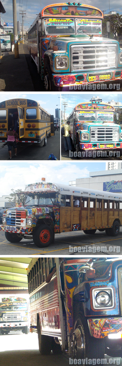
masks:
[[(69, 249), (71, 247), (71, 249)], [(75, 247), (75, 249), (74, 249)], [(86, 235), (83, 231), (55, 234), (55, 243), (47, 248), (38, 248), (33, 240), (22, 239), (19, 243), (10, 243), (0, 232), (0, 255), (122, 255), (122, 227), (118, 236), (107, 236), (106, 232), (96, 231)]]

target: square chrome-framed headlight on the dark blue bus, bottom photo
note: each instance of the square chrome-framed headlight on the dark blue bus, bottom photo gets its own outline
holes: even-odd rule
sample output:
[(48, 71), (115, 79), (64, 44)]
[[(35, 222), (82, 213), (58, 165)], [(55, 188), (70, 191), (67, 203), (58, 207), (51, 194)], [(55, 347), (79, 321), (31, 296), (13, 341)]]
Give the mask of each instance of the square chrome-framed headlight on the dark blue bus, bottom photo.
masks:
[[(106, 292), (109, 298), (109, 302), (106, 305), (100, 305), (97, 302), (97, 296), (100, 292)], [(112, 309), (114, 307), (114, 291), (112, 287), (98, 287), (92, 290), (92, 302), (94, 309)]]

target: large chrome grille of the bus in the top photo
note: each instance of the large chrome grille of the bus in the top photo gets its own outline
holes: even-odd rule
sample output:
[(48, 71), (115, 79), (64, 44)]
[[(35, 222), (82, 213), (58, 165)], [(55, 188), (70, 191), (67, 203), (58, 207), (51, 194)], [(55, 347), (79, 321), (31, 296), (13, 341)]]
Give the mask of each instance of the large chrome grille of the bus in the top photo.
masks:
[(117, 67), (117, 45), (71, 46), (71, 71)]

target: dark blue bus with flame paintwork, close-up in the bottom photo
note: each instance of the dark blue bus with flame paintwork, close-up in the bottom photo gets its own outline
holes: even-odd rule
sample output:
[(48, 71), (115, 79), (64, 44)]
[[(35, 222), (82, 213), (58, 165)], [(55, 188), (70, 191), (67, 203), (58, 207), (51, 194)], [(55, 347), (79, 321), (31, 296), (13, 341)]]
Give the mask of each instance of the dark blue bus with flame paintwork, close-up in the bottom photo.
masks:
[(122, 259), (33, 258), (27, 277), (30, 332), (38, 333), (41, 355), (122, 357)]

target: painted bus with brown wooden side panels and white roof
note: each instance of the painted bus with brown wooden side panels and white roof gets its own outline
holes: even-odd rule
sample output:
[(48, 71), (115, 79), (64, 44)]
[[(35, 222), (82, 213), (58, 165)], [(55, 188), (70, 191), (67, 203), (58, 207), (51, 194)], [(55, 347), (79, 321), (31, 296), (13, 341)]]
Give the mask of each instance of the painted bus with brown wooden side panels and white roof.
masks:
[[(119, 183), (118, 183), (119, 184)], [(121, 183), (120, 183), (121, 184)], [(64, 184), (29, 184), (24, 206), (9, 208), (3, 214), (0, 230), (10, 242), (32, 239), (38, 247), (47, 247), (55, 233), (83, 230), (95, 234), (118, 235), (122, 225), (122, 195)], [(79, 207), (74, 206), (78, 199)]]

